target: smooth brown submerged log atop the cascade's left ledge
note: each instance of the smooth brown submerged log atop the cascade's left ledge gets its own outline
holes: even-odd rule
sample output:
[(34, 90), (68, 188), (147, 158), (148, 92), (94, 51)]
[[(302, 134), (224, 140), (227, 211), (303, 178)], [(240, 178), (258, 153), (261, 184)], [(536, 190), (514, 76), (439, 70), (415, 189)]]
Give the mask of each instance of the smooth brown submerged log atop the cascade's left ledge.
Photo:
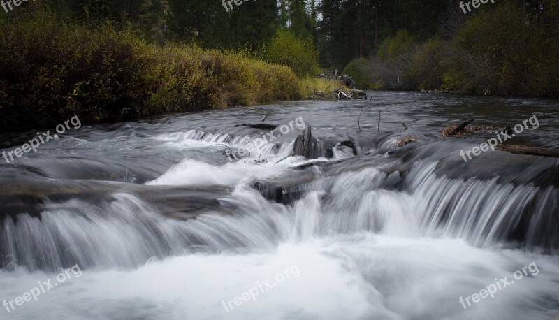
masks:
[[(0, 178), (0, 228), (6, 217), (16, 218), (27, 213), (41, 217), (49, 204), (59, 208), (71, 208), (68, 201), (110, 203), (116, 193), (134, 194), (150, 203), (158, 212), (174, 219), (191, 219), (208, 212), (232, 213), (218, 198), (231, 193), (231, 186), (174, 187), (128, 184), (124, 182), (101, 182), (94, 180), (6, 180)], [(72, 210), (72, 209), (68, 209)]]

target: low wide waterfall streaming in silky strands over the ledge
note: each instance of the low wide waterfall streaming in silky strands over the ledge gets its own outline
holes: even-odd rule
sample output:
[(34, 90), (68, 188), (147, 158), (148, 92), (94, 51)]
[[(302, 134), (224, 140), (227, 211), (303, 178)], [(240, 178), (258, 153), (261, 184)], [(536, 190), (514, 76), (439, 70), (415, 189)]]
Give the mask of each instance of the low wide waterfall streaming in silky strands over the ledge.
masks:
[[(188, 164), (170, 169), (173, 174), (157, 182), (177, 182), (180, 170), (196, 172), (210, 166), (196, 161)], [(558, 233), (549, 231), (551, 219), (557, 219), (549, 214), (558, 208), (556, 188), (500, 185), (495, 179), (453, 180), (437, 177), (435, 166), (416, 163), (405, 177), (377, 168), (322, 176), (300, 188), (300, 199), (293, 205), (270, 202), (250, 187), (249, 180), (241, 180), (230, 196), (219, 199), (238, 208), (235, 214), (207, 212), (187, 221), (164, 217), (134, 194), (115, 193), (101, 203), (51, 203), (41, 219), (29, 214), (6, 219), (0, 229), (2, 266), (16, 263), (30, 270), (55, 270), (75, 263), (84, 268), (133, 267), (150, 257), (252, 252), (279, 243), (362, 231), (464, 238), (478, 247), (515, 240), (524, 246), (557, 249)], [(261, 170), (267, 176), (274, 168)], [(394, 180), (400, 179), (403, 187), (394, 188)]]

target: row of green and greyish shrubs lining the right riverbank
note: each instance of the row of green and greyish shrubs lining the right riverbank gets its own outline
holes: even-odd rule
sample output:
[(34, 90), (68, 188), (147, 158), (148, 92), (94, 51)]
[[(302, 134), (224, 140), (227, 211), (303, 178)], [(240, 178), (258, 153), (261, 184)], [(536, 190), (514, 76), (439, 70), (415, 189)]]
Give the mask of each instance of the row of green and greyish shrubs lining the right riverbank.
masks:
[(545, 21), (521, 19), (513, 1), (468, 15), (449, 41), (416, 45), (399, 31), (371, 59), (370, 87), (559, 96), (558, 20), (559, 0), (550, 1)]

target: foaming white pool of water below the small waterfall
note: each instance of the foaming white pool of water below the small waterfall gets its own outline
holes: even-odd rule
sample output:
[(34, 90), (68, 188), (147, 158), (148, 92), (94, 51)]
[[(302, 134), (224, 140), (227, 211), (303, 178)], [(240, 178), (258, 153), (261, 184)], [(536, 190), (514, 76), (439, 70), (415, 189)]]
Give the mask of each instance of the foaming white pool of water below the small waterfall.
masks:
[[(464, 310), (460, 296), (536, 261), (525, 277)], [(226, 312), (233, 300), (297, 266), (299, 277)], [(2, 296), (21, 296), (54, 274), (1, 272)], [(263, 254), (194, 254), (133, 269), (84, 270), (10, 319), (548, 319), (557, 303), (556, 259), (477, 249), (462, 240), (372, 233), (287, 242)], [(545, 311), (548, 310), (548, 311)]]

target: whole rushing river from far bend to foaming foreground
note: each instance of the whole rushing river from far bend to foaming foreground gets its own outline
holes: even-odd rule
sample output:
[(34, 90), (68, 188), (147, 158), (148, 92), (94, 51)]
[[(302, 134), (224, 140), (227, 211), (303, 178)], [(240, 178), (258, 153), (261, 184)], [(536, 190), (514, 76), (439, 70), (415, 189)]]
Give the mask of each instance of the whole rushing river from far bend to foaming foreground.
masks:
[[(559, 148), (558, 103), (370, 96), (82, 126), (1, 164), (0, 303), (80, 272), (1, 307), (0, 319), (559, 314), (559, 161), (488, 151), (465, 163), (460, 150), (494, 130), (440, 134), (449, 120), (502, 127), (536, 116), (511, 143)], [(323, 147), (328, 163), (296, 169), (310, 160), (288, 157), (294, 126), (250, 161), (228, 161), (226, 151), (268, 133), (234, 125), (262, 115), (303, 119), (320, 142), (353, 141), (358, 157)], [(4, 134), (0, 152), (35, 132)], [(398, 147), (406, 136), (416, 142)], [(460, 303), (522, 268), (493, 298)]]

